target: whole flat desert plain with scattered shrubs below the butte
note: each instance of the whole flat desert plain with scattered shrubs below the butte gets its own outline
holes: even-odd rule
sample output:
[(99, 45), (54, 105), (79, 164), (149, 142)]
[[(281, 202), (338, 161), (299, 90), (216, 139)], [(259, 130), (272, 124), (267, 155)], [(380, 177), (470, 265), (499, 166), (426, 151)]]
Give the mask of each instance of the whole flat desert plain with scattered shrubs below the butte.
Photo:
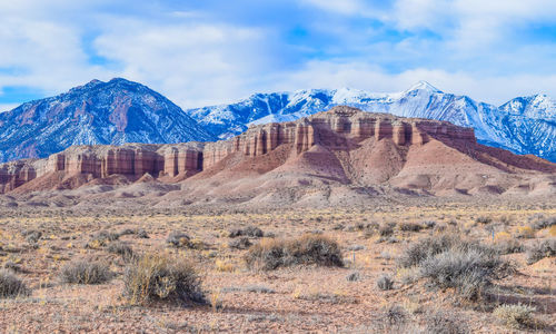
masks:
[(554, 217), (14, 209), (0, 218), (0, 330), (550, 333)]

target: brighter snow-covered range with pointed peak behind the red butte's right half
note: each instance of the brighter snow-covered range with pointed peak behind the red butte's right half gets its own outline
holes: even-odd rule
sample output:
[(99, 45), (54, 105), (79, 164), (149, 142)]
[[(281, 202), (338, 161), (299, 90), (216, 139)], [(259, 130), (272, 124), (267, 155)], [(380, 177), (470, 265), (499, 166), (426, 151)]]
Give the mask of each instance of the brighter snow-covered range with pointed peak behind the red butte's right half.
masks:
[(251, 124), (295, 120), (338, 105), (370, 112), (447, 120), (473, 127), (483, 144), (556, 161), (556, 102), (544, 95), (515, 98), (496, 107), (467, 96), (443, 92), (420, 81), (396, 94), (347, 88), (256, 94), (237, 104), (186, 112), (225, 139), (240, 134)]

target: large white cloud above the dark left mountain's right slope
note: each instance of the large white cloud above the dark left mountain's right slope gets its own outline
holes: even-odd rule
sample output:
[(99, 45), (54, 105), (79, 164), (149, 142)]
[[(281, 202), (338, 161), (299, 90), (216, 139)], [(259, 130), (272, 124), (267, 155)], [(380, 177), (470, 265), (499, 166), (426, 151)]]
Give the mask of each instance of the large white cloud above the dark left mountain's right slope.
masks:
[(265, 36), (230, 24), (107, 22), (98, 53), (122, 63), (121, 76), (148, 84), (182, 107), (227, 101), (248, 94), (261, 75)]

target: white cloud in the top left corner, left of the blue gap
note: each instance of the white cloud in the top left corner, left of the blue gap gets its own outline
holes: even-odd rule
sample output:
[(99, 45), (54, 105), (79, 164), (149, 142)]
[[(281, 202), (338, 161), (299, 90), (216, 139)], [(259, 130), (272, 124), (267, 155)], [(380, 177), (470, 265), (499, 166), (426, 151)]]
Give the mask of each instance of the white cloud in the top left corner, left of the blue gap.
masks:
[(0, 68), (8, 69), (0, 71), (0, 88), (33, 87), (56, 94), (105, 72), (89, 65), (80, 29), (52, 19), (46, 8), (41, 12), (44, 6), (37, 1), (14, 3), (0, 4)]

